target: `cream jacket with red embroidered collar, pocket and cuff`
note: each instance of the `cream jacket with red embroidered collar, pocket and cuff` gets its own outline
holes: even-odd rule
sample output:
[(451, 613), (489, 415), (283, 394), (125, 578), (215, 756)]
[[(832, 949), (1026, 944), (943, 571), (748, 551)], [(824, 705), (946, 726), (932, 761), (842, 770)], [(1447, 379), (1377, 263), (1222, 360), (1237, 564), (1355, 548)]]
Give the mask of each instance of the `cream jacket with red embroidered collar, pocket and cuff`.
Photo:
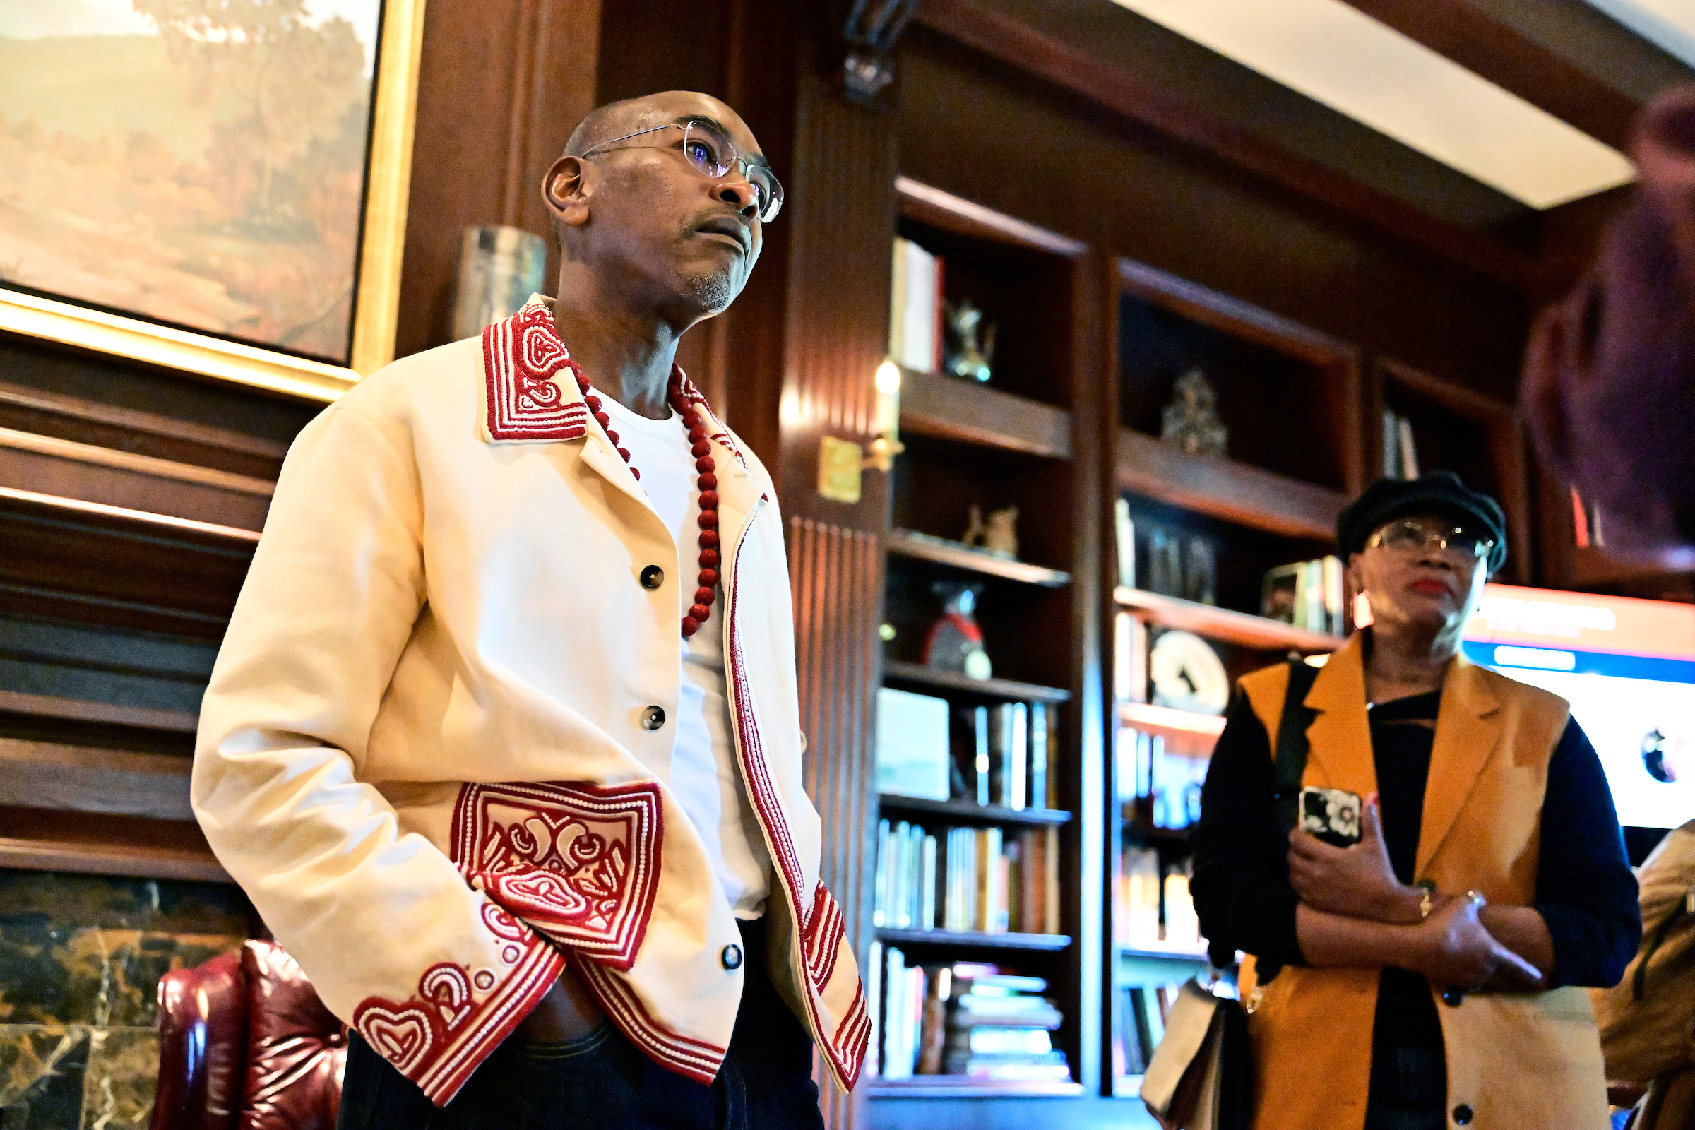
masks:
[[(680, 556), (564, 359), (532, 300), (314, 420), (202, 706), (193, 803), (219, 861), (331, 1011), (439, 1105), (566, 961), (700, 1081), (741, 998), (736, 920), (666, 786), (698, 549)], [(776, 491), (707, 412), (724, 600), (702, 630), (724, 632), (773, 862), (771, 976), (851, 1088), (870, 1018), (802, 789)]]

